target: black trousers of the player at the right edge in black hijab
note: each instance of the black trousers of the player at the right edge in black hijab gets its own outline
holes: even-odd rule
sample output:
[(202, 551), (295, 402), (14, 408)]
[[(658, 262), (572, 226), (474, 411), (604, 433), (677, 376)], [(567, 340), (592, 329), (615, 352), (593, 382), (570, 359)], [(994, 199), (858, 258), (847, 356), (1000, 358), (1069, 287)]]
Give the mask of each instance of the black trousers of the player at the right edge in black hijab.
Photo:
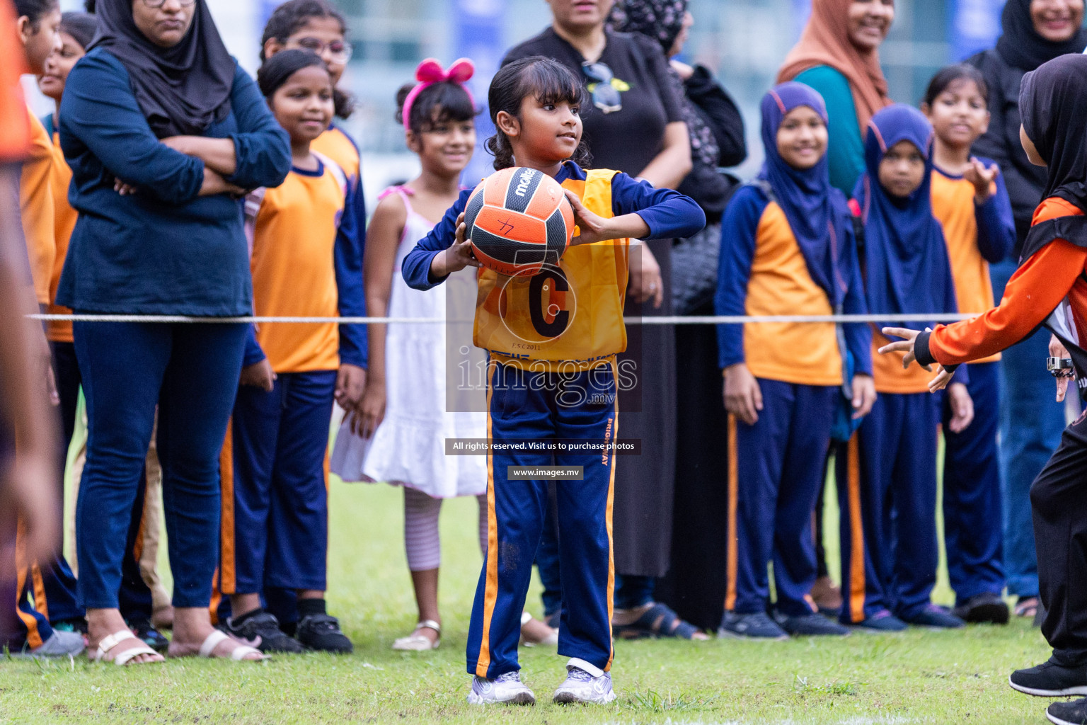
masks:
[(1064, 429), (1061, 445), (1030, 486), (1041, 634), (1053, 661), (1087, 664), (1087, 412)]

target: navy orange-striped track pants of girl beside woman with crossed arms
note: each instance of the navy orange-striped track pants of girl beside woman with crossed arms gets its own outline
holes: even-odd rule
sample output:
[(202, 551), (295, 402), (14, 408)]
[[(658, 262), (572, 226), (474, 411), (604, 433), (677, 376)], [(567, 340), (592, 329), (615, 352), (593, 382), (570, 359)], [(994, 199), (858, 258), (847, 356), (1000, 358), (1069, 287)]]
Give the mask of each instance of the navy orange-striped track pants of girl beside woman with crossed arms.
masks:
[(271, 392), (238, 388), (222, 457), (223, 593), (326, 589), (335, 389), (336, 371), (280, 373)]

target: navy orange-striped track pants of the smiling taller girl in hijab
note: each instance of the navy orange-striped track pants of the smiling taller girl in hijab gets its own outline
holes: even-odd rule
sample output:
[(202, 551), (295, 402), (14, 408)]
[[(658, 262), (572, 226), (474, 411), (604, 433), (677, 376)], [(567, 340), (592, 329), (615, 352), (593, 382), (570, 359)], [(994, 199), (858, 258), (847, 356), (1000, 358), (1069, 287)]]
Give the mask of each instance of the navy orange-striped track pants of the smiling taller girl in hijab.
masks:
[(728, 549), (725, 609), (766, 611), (774, 562), (776, 608), (815, 611), (812, 512), (840, 387), (759, 379), (763, 408), (754, 425), (728, 416)]

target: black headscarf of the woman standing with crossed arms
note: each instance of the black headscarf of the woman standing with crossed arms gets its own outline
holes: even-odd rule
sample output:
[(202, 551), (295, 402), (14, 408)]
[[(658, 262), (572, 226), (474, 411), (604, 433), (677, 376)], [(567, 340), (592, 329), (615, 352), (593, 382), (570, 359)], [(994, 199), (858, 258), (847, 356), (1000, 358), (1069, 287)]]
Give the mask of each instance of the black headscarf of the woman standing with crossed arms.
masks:
[(133, 21), (132, 0), (98, 0), (98, 36), (128, 70), (136, 100), (159, 138), (200, 135), (230, 112), (234, 59), (218, 36), (204, 0), (173, 48), (160, 48)]

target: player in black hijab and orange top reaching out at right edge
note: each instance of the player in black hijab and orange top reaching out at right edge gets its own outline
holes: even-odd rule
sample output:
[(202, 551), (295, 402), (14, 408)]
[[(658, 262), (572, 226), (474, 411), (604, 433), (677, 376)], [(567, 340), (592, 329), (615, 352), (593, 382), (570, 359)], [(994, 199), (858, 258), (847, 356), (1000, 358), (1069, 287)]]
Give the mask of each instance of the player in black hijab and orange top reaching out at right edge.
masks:
[[(1087, 57), (1064, 55), (1027, 73), (1020, 108), (1023, 149), (1048, 174), (1023, 261), (1000, 307), (932, 333), (885, 329), (908, 340), (880, 352), (901, 350), (908, 363), (953, 366), (999, 352), (1045, 325), (1054, 336), (1053, 354), (1071, 357), (1075, 376), (1087, 378), (1082, 347), (1087, 345)], [(1058, 380), (1058, 400), (1067, 382)], [(1082, 695), (1087, 692), (1087, 415), (1065, 428), (1030, 487), (1030, 507), (1046, 608), (1041, 634), (1053, 655), (1013, 672), (1009, 682), (1038, 697)], [(1052, 704), (1048, 714), (1054, 723), (1087, 722), (1087, 700)]]

